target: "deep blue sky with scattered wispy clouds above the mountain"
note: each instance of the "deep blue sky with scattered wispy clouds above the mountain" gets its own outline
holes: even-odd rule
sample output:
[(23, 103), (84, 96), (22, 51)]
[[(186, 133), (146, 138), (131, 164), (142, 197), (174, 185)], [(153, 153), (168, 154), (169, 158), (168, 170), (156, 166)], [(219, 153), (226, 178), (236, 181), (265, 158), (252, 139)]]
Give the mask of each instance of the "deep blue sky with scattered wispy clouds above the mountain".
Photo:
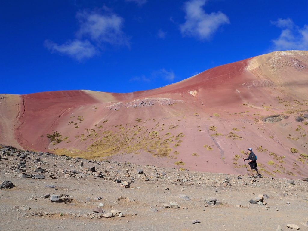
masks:
[(132, 92), (276, 50), (308, 50), (306, 0), (0, 3), (0, 93)]

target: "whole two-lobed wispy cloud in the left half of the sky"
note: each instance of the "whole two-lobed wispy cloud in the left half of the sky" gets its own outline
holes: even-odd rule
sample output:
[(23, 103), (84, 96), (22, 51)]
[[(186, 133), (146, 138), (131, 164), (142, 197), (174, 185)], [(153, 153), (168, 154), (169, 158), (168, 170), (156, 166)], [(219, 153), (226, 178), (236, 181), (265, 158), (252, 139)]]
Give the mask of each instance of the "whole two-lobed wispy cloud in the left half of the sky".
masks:
[(44, 45), (51, 52), (69, 55), (82, 61), (98, 54), (106, 44), (129, 47), (129, 39), (122, 30), (124, 19), (120, 16), (84, 10), (77, 13), (76, 17), (80, 23), (79, 30), (76, 32), (77, 39), (68, 40), (61, 45), (45, 40)]

